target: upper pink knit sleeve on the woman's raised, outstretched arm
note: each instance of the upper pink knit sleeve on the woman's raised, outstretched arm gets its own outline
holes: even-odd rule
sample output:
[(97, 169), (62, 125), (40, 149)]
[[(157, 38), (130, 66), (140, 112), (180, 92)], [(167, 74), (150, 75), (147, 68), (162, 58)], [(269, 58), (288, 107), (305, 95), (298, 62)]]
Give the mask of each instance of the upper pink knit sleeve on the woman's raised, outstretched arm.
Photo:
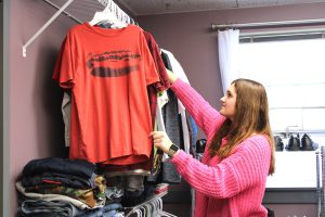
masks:
[(171, 90), (183, 103), (197, 126), (204, 130), (207, 137), (224, 122), (224, 116), (182, 79), (178, 78), (171, 86)]

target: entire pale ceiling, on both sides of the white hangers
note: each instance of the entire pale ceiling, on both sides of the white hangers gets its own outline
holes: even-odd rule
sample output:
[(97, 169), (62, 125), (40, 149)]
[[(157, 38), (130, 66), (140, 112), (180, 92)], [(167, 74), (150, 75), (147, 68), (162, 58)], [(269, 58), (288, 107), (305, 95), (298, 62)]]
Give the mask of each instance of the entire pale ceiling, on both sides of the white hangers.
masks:
[[(44, 0), (46, 1), (46, 0)], [(48, 0), (62, 7), (67, 0)], [(114, 0), (130, 15), (154, 15), (195, 11), (224, 10), (237, 8), (258, 8), (299, 3), (325, 2), (325, 0)], [(98, 0), (75, 0), (65, 11), (81, 17), (82, 21), (92, 18), (94, 12), (104, 7)]]

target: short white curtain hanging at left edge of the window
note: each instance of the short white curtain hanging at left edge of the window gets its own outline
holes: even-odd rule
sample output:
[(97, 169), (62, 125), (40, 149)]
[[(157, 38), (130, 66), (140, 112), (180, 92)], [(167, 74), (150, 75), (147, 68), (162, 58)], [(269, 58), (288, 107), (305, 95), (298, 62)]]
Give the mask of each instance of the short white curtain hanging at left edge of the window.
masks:
[(219, 66), (222, 81), (222, 90), (226, 89), (234, 79), (239, 77), (238, 50), (239, 30), (226, 29), (218, 31)]

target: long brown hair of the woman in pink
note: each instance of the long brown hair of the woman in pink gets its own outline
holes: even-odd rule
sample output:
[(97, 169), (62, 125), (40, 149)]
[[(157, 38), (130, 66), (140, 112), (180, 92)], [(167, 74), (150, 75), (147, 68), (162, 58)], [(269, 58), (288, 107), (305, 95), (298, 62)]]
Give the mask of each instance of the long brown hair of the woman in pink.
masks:
[[(234, 84), (237, 94), (233, 120), (225, 119), (212, 138), (210, 155), (221, 158), (229, 156), (234, 148), (252, 133), (263, 135), (271, 145), (271, 163), (269, 175), (274, 173), (274, 141), (269, 120), (269, 102), (264, 87), (253, 80), (236, 79)], [(226, 145), (221, 146), (222, 138), (227, 138)]]

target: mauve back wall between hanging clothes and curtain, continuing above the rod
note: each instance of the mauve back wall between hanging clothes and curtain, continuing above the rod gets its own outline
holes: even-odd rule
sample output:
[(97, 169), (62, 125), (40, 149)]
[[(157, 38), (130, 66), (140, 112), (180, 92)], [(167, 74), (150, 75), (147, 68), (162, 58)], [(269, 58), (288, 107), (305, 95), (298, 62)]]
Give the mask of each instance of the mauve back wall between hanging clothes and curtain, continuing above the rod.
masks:
[[(139, 16), (136, 20), (143, 29), (153, 34), (161, 48), (174, 54), (183, 66), (191, 85), (216, 108), (219, 108), (222, 87), (218, 64), (217, 33), (209, 31), (211, 23), (234, 24), (325, 18), (324, 11), (325, 3), (307, 3)], [(198, 137), (204, 137), (202, 131)]]

